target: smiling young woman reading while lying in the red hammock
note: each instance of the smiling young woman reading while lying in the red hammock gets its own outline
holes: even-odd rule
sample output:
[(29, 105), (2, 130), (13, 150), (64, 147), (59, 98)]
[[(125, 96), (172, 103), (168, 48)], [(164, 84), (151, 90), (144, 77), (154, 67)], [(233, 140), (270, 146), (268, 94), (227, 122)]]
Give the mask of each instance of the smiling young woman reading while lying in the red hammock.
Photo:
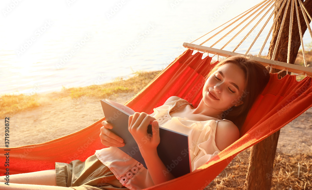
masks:
[[(266, 68), (256, 61), (232, 56), (208, 74), (197, 107), (179, 97), (170, 97), (151, 115), (136, 112), (130, 116), (128, 130), (148, 169), (117, 148), (124, 146), (123, 140), (103, 121), (100, 138), (109, 148), (97, 150), (85, 162), (56, 163), (55, 170), (11, 175), (10, 186), (2, 183), (0, 189), (142, 189), (171, 180), (174, 177), (156, 149), (159, 126), (189, 136), (193, 171), (239, 138), (239, 129), (269, 78)], [(147, 126), (151, 122), (153, 134), (149, 135)], [(4, 182), (3, 178), (0, 180)]]

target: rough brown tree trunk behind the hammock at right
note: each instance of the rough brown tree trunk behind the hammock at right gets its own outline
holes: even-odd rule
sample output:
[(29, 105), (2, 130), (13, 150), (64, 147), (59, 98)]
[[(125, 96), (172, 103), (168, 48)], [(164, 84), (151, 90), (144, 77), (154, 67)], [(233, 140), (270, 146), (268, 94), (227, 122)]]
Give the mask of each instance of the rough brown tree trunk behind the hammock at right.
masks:
[[(311, 15), (312, 13), (312, 0), (306, 0), (304, 3), (307, 11)], [(287, 4), (284, 6), (284, 10)], [(307, 25), (305, 24), (304, 17), (302, 15), (300, 5), (297, 3), (299, 8), (299, 15), (300, 15), (300, 26), (302, 35), (305, 33), (307, 29)], [(278, 48), (276, 50), (275, 60), (281, 62), (287, 62), (287, 51), (288, 51), (288, 36), (289, 36), (289, 24), (290, 24), (290, 8), (289, 6), (287, 17), (285, 20), (285, 24), (282, 28), (280, 42), (278, 44)], [(295, 7), (294, 7), (295, 8)], [(285, 12), (282, 10), (282, 13)], [(275, 12), (275, 15), (277, 12)], [(277, 23), (273, 29), (273, 36), (270, 43), (268, 59), (271, 59), (273, 55), (273, 51), (275, 48), (275, 43), (277, 40), (278, 32), (280, 31), (281, 21), (283, 18), (283, 14), (280, 15), (278, 18)], [(310, 19), (308, 18), (310, 23)], [(294, 11), (294, 20), (292, 25), (292, 39), (291, 39), (291, 47), (290, 47), (290, 64), (294, 64), (295, 59), (298, 54), (298, 50), (300, 48), (300, 35), (299, 35), (299, 28), (298, 28), (298, 21), (296, 12)], [(270, 69), (270, 68), (268, 68)], [(272, 73), (277, 73), (278, 69), (272, 69)], [(279, 74), (279, 78), (282, 78), (286, 75), (286, 71), (283, 71)], [(250, 162), (248, 173), (245, 182), (245, 189), (249, 190), (265, 190), (271, 189), (271, 180), (272, 180), (272, 172), (273, 172), (273, 164), (276, 152), (276, 146), (278, 142), (278, 137), (280, 135), (280, 131), (275, 132), (268, 138), (262, 140), (258, 144), (254, 145), (250, 152)]]

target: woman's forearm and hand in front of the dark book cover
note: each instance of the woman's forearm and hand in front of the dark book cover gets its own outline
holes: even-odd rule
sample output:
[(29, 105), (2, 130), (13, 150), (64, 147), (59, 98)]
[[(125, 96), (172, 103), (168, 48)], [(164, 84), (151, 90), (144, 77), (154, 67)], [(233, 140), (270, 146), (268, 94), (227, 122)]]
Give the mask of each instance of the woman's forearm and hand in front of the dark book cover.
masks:
[[(152, 135), (147, 133), (147, 127), (151, 122)], [(129, 117), (128, 129), (139, 146), (139, 150), (154, 184), (156, 185), (174, 179), (174, 176), (168, 173), (166, 166), (160, 160), (157, 153), (157, 146), (160, 142), (160, 138), (159, 126), (156, 119), (144, 112), (136, 112)]]

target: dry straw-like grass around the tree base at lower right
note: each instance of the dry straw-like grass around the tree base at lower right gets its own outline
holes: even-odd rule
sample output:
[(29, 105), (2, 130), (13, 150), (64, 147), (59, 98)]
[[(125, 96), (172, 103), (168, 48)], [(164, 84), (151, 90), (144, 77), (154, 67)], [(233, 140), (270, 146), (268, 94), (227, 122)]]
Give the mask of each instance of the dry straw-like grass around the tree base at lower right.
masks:
[[(250, 150), (238, 154), (206, 189), (244, 189)], [(271, 189), (312, 189), (312, 155), (275, 155)]]

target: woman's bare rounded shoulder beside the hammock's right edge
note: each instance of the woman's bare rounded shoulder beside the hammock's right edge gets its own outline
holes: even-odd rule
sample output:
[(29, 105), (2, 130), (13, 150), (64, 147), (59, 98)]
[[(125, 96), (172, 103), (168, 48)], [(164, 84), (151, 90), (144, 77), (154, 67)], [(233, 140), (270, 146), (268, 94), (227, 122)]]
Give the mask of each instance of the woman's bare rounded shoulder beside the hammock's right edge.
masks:
[(239, 139), (237, 126), (229, 121), (219, 121), (216, 131), (216, 145), (219, 150), (224, 150)]

